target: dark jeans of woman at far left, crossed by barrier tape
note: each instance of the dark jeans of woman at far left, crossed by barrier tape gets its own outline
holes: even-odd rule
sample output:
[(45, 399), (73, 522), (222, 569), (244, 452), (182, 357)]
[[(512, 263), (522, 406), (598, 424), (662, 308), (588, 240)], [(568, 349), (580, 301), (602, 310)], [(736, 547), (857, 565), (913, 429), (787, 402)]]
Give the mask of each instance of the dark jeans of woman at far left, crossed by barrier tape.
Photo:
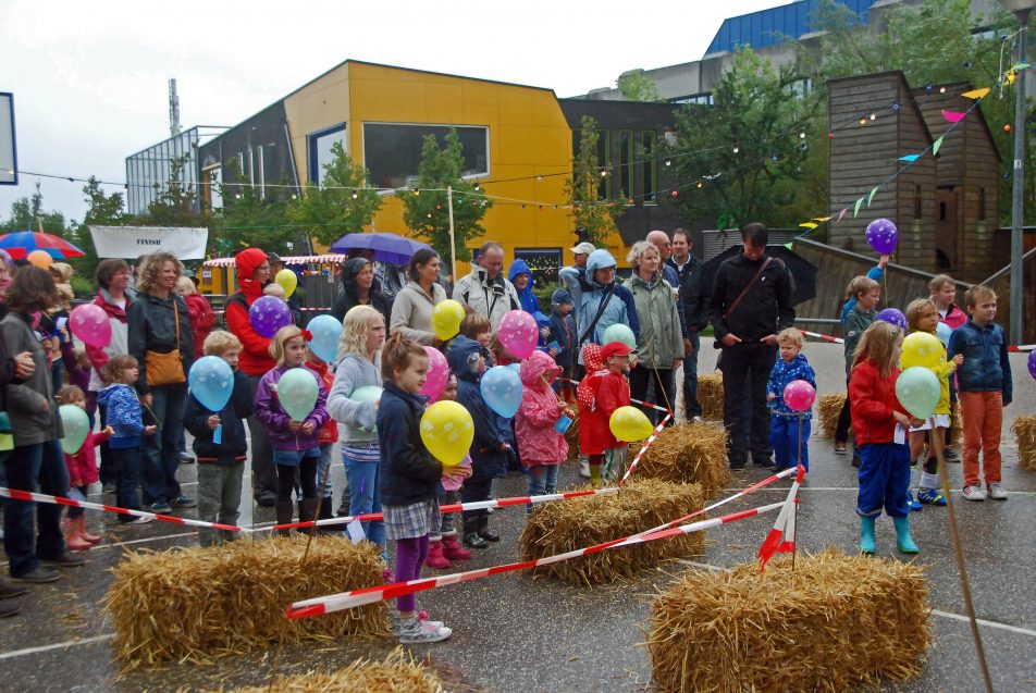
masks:
[[(69, 493), (69, 468), (58, 441), (15, 447), (7, 461), (8, 487), (64, 496)], [(33, 527), (33, 508), (39, 534)], [(17, 578), (39, 568), (40, 558), (58, 558), (65, 552), (61, 534), (60, 505), (7, 500), (3, 504), (3, 549), (8, 570)], [(35, 536), (35, 547), (34, 547)]]

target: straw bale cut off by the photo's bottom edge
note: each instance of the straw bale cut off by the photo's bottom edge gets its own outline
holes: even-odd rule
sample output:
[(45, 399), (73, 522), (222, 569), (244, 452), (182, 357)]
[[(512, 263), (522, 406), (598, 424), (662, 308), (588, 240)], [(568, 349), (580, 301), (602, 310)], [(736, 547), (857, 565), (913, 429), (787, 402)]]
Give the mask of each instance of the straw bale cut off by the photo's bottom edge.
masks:
[(229, 693), (442, 693), (444, 690), (442, 679), (432, 669), (396, 647), (381, 661), (357, 659), (333, 673), (318, 670), (282, 676), (270, 686), (235, 689)]

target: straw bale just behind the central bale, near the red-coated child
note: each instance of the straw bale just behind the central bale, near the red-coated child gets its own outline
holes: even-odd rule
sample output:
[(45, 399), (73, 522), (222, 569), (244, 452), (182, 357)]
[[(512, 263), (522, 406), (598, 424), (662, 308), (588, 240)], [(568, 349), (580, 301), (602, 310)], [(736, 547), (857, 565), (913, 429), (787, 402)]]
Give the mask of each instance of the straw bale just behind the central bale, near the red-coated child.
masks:
[(701, 484), (710, 498), (730, 481), (727, 432), (703, 421), (669, 426), (644, 453), (633, 477)]

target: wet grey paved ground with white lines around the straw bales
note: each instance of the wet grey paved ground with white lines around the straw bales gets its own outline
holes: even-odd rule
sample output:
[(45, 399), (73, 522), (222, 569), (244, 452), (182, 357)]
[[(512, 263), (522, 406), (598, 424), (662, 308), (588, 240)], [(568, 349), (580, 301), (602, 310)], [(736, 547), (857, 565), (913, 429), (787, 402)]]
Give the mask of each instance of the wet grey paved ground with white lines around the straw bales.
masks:
[[(703, 354), (702, 366), (711, 367), (715, 355)], [(821, 392), (841, 389), (839, 347), (811, 344), (807, 354), (821, 373)], [(1021, 412), (1036, 410), (1036, 384), (1024, 370), (1022, 355), (1015, 367), (1016, 403), (1008, 422)], [(704, 369), (703, 369), (704, 370)], [(966, 540), (966, 560), (975, 606), (983, 623), (982, 636), (998, 691), (1036, 690), (1036, 599), (1032, 594), (1033, 556), (1036, 554), (1033, 522), (1036, 517), (1036, 474), (1016, 468), (1013, 438), (1004, 434), (1004, 485), (1011, 492), (1006, 503), (971, 504), (959, 500), (958, 510)], [(853, 515), (854, 470), (848, 459), (834, 455), (829, 442), (811, 443), (813, 471), (802, 490), (799, 545), (807, 552), (836, 546), (853, 550), (858, 522)], [(195, 467), (181, 469), (186, 488), (194, 488)], [(960, 486), (961, 469), (950, 466)], [(764, 477), (761, 470), (738, 472), (731, 488), (744, 487)], [(335, 496), (341, 484), (335, 468)], [(574, 466), (566, 466), (560, 487), (576, 483)], [(766, 491), (751, 502), (772, 503), (782, 497), (788, 484)], [(525, 478), (514, 475), (499, 483), (496, 495), (522, 495)], [(243, 504), (244, 523), (251, 522), (250, 503)], [(929, 652), (924, 673), (905, 684), (885, 686), (897, 692), (978, 691), (982, 680), (961, 599), (946, 510), (927, 508), (913, 518), (932, 583), (932, 621), (937, 645)], [(754, 550), (773, 523), (773, 516), (714, 530), (706, 555), (670, 564), (634, 582), (603, 587), (575, 589), (554, 581), (507, 574), (428, 592), (422, 602), (433, 615), (454, 628), (446, 643), (415, 647), (459, 690), (489, 691), (642, 691), (650, 684), (651, 665), (638, 647), (643, 640), (651, 596), (664, 589), (671, 576), (687, 569), (729, 567), (753, 558)], [(258, 522), (272, 520), (262, 511)], [(95, 520), (96, 521), (96, 520)], [(497, 511), (492, 524), (504, 541), (478, 554), (462, 569), (486, 567), (517, 557), (516, 540), (522, 513)], [(196, 543), (186, 528), (151, 523), (138, 528), (112, 527), (106, 522), (109, 542), (89, 553), (89, 564), (65, 572), (54, 585), (33, 589), (21, 597), (22, 614), (0, 622), (0, 691), (175, 691), (217, 688), (266, 681), (268, 653), (227, 658), (212, 666), (173, 665), (156, 671), (119, 676), (112, 660), (111, 623), (99, 605), (110, 580), (108, 569), (123, 550), (161, 550)], [(895, 556), (892, 529), (879, 522), (879, 554)], [(1028, 558), (1025, 558), (1028, 556)], [(428, 574), (428, 571), (425, 571)], [(337, 668), (360, 655), (380, 656), (391, 642), (343, 642), (340, 646), (285, 651), (282, 671), (303, 671), (317, 666)]]

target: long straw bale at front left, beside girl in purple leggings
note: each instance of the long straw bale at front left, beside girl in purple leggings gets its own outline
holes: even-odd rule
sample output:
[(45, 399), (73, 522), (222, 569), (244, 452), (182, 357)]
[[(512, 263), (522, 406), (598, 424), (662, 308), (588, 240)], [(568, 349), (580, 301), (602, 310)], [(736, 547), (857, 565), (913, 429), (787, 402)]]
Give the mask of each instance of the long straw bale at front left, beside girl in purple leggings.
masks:
[(324, 536), (300, 565), (308, 537), (130, 553), (112, 569), (106, 608), (115, 653), (128, 667), (211, 657), (343, 635), (386, 635), (384, 603), (288, 620), (288, 604), (381, 584), (370, 543)]

